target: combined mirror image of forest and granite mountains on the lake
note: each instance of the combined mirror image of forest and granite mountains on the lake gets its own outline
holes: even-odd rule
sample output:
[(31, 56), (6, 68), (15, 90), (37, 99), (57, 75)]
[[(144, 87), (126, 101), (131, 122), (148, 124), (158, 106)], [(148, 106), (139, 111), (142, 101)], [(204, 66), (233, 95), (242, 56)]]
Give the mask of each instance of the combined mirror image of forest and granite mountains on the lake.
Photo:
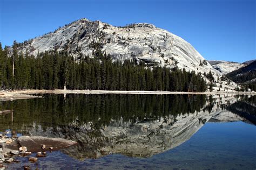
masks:
[(255, 96), (44, 95), (3, 101), (0, 129), (60, 137), (79, 145), (62, 152), (76, 159), (120, 153), (148, 158), (190, 139), (206, 122), (255, 122)]

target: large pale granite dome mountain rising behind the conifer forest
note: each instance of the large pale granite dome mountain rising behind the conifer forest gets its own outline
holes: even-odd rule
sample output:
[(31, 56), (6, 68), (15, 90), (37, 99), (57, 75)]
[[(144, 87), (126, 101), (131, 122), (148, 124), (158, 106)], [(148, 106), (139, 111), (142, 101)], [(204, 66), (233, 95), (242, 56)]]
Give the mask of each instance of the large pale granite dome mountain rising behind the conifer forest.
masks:
[[(187, 41), (147, 23), (117, 27), (80, 19), (54, 32), (18, 44), (20, 52), (35, 56), (38, 52), (55, 49), (68, 51), (78, 60), (84, 55), (92, 57), (93, 52), (100, 50), (109, 54), (113, 60), (135, 59), (149, 66), (157, 63), (202, 74), (211, 71), (215, 80), (223, 75), (207, 61), (200, 65), (205, 59)], [(232, 90), (236, 86), (234, 82), (223, 84), (223, 88)]]

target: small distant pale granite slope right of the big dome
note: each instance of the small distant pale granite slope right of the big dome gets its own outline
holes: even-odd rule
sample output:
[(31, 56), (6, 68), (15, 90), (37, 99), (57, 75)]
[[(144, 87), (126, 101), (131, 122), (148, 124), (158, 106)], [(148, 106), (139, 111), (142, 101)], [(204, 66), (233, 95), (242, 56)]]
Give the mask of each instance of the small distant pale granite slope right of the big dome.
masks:
[(211, 64), (213, 68), (217, 69), (219, 72), (223, 74), (228, 74), (241, 67), (245, 67), (248, 63), (248, 62), (239, 63), (239, 62), (221, 61), (221, 60), (208, 60), (208, 62)]

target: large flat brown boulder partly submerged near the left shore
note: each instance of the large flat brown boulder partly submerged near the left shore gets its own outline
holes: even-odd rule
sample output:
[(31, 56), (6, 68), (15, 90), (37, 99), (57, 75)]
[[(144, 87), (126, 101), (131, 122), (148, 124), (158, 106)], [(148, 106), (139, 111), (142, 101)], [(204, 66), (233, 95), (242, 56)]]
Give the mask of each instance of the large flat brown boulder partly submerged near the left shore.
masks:
[(21, 136), (17, 139), (17, 143), (21, 146), (26, 146), (30, 152), (38, 152), (42, 150), (42, 145), (45, 145), (45, 151), (48, 148), (54, 147), (54, 150), (59, 150), (60, 148), (66, 148), (76, 145), (76, 141), (66, 140), (62, 138), (46, 138), (41, 136)]

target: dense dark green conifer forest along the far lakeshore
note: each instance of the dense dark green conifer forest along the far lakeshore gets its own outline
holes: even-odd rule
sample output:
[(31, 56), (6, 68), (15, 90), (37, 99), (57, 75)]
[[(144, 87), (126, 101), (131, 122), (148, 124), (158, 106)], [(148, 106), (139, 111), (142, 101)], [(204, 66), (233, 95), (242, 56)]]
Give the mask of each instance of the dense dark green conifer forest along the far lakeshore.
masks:
[(68, 52), (45, 51), (37, 56), (18, 53), (13, 45), (0, 47), (0, 87), (2, 89), (100, 89), (205, 91), (201, 74), (185, 69), (147, 67), (144, 62), (112, 61), (100, 50), (93, 58)]

